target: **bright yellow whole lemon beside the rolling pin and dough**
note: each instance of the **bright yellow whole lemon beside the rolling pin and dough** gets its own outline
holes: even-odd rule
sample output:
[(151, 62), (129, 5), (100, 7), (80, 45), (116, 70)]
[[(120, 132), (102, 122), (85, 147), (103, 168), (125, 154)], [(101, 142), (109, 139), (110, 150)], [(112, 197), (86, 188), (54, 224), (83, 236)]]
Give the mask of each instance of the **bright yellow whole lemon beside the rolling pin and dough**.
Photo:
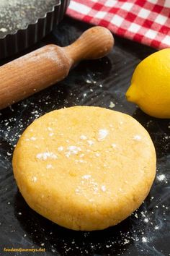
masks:
[(150, 116), (170, 118), (170, 48), (138, 64), (126, 98)]

